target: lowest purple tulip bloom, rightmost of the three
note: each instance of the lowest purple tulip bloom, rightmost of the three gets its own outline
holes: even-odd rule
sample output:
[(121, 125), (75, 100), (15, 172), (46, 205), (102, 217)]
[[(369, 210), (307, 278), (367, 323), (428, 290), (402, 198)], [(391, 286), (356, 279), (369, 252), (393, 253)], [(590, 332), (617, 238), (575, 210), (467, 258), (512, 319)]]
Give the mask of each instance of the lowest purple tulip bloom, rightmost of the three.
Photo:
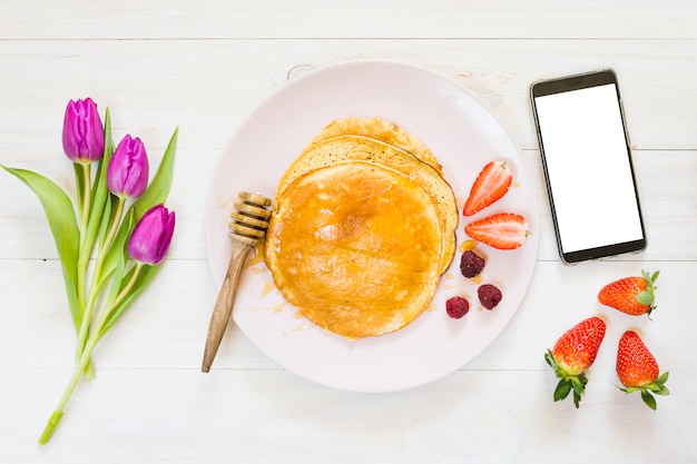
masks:
[(165, 259), (174, 234), (175, 213), (154, 206), (140, 218), (128, 240), (128, 255), (138, 263), (154, 266)]

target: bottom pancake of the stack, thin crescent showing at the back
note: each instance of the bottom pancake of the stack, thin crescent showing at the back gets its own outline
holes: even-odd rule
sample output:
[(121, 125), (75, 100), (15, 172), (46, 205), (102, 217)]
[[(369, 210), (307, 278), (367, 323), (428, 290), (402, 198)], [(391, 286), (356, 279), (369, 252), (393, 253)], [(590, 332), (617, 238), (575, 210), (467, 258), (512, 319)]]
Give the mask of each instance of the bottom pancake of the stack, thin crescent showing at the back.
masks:
[(311, 145), (338, 136), (364, 136), (384, 141), (387, 145), (409, 151), (419, 160), (433, 167), (440, 175), (443, 174), (441, 165), (429, 147), (411, 132), (392, 121), (380, 118), (357, 118), (353, 116), (335, 120), (323, 128), (311, 141)]

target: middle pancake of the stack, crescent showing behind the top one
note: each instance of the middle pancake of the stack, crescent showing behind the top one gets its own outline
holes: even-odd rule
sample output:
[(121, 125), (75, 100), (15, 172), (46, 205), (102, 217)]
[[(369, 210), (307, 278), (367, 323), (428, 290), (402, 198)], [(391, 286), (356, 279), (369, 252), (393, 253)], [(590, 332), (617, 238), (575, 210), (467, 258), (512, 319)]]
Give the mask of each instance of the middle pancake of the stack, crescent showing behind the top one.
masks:
[[(363, 136), (338, 136), (310, 146), (288, 167), (276, 188), (276, 197), (298, 177), (314, 169), (344, 161), (370, 161), (394, 169), (425, 190), (436, 208), (441, 227), (441, 274), (448, 270), (455, 254), (459, 210), (448, 181), (430, 165), (397, 147)], [(395, 204), (399, 205), (399, 204)], [(400, 205), (401, 207), (401, 205)]]

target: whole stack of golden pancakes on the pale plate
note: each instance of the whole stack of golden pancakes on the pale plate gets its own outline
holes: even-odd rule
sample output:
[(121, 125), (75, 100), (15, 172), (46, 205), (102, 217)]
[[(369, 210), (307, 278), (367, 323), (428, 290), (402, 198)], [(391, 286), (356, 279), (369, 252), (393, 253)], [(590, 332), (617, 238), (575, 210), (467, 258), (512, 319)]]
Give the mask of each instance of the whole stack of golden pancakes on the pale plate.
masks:
[(429, 306), (454, 256), (458, 219), (425, 145), (390, 121), (347, 118), (282, 177), (264, 257), (306, 318), (350, 338), (376, 336)]

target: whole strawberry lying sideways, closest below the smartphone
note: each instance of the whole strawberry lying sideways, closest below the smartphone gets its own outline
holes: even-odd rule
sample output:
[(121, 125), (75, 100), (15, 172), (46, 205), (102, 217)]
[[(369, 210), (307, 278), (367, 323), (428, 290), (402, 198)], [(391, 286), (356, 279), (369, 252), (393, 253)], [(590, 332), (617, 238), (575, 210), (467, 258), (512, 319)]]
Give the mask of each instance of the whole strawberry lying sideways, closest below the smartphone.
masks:
[(656, 309), (654, 292), (659, 272), (649, 275), (641, 270), (641, 277), (632, 276), (615, 280), (600, 289), (598, 300), (631, 316), (650, 315)]

